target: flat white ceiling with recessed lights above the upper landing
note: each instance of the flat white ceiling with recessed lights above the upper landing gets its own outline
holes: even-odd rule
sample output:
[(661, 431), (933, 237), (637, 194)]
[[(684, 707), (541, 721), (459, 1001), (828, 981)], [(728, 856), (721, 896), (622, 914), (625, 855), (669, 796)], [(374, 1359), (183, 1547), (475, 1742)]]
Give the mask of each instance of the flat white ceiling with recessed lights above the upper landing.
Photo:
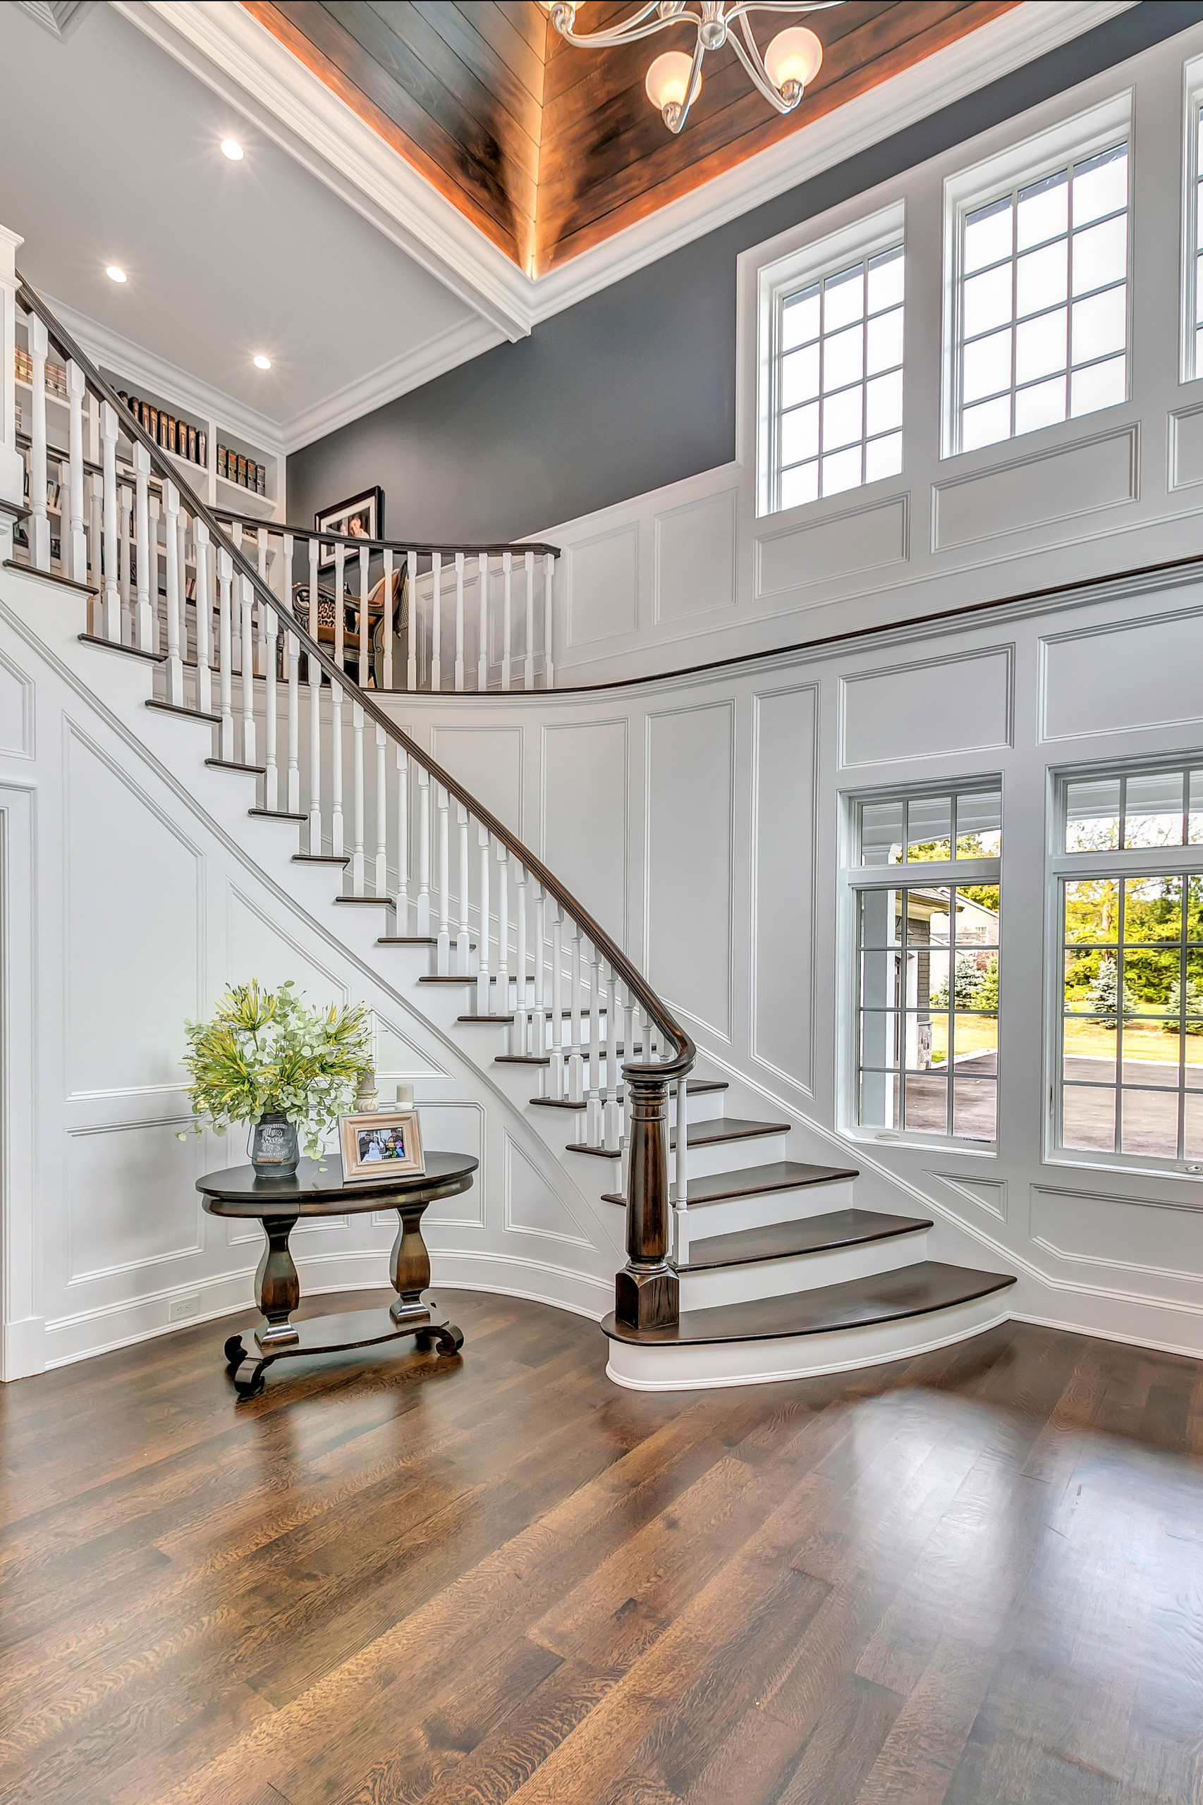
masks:
[(349, 390), (379, 404), (412, 386), (406, 372), (424, 381), (446, 352), (461, 361), (500, 338), (108, 5), (67, 42), (0, 5), (0, 224), (23, 235), (18, 267), (36, 289), (264, 415), (289, 446), (334, 424)]

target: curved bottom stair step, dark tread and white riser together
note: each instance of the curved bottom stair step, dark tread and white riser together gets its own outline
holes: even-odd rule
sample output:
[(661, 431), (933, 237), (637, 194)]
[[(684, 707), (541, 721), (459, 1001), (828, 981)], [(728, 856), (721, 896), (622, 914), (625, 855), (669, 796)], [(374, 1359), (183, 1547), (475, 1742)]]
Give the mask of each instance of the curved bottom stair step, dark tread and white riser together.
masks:
[[(638, 1332), (607, 1316), (605, 1372), (634, 1392), (697, 1392), (878, 1366), (1006, 1321), (1002, 1294), (1013, 1283), (1012, 1274), (923, 1262), (878, 1280), (683, 1312), (677, 1328)], [(847, 1307), (853, 1292), (860, 1309)]]

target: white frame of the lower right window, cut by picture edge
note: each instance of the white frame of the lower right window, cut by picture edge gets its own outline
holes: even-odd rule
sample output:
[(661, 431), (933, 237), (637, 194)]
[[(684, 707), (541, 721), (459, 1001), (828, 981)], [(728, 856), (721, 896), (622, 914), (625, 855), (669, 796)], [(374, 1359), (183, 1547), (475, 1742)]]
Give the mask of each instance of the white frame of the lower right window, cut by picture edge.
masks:
[[(1203, 1177), (1203, 1161), (1165, 1159), (1160, 1153), (1118, 1153), (1098, 1148), (1062, 1146), (1062, 1049), (1064, 1049), (1064, 921), (1062, 884), (1084, 877), (1160, 877), (1203, 875), (1203, 845), (1147, 847), (1111, 852), (1064, 852), (1066, 792), (1069, 783), (1091, 778), (1133, 778), (1158, 771), (1199, 769), (1203, 749), (1161, 753), (1149, 758), (1107, 758), (1089, 765), (1066, 765), (1049, 771), (1048, 809), (1048, 886), (1044, 902), (1046, 931), (1046, 1134), (1044, 1161), (1053, 1166), (1084, 1166), (1098, 1171), (1143, 1171), (1167, 1179)], [(1120, 1088), (1116, 1070), (1116, 1090)]]

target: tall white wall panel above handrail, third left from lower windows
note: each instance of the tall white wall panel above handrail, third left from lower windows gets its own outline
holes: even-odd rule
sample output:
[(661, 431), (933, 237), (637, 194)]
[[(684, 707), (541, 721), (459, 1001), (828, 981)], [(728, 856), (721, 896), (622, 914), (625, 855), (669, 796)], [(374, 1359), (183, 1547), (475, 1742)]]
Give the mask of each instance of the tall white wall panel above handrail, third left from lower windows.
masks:
[(540, 847), (544, 863), (589, 913), (627, 944), (627, 720), (544, 726)]

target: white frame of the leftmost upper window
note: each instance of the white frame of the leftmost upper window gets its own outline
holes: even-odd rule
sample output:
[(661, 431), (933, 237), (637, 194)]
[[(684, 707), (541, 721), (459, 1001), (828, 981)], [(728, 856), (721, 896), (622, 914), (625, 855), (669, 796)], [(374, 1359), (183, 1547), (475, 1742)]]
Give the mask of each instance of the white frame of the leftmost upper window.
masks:
[[(779, 424), (779, 370), (780, 370), (780, 312), (782, 301), (797, 289), (807, 287), (824, 276), (833, 276), (858, 258), (876, 256), (903, 245), (907, 256), (907, 202), (894, 200), (878, 213), (853, 220), (840, 231), (827, 233), (773, 264), (764, 264), (757, 271), (757, 516), (795, 513), (777, 505), (779, 467), (777, 467), (777, 424)], [(907, 301), (903, 289), (903, 395), (907, 370)], [(905, 399), (903, 399), (905, 406)], [(903, 428), (905, 430), (905, 428)], [(903, 467), (907, 440), (903, 437)], [(896, 477), (881, 477), (874, 482), (862, 482), (854, 489), (842, 489), (840, 496), (860, 495), (876, 487), (878, 482), (901, 482)], [(824, 496), (818, 498), (825, 500)], [(816, 502), (802, 502), (800, 507), (815, 507)]]

